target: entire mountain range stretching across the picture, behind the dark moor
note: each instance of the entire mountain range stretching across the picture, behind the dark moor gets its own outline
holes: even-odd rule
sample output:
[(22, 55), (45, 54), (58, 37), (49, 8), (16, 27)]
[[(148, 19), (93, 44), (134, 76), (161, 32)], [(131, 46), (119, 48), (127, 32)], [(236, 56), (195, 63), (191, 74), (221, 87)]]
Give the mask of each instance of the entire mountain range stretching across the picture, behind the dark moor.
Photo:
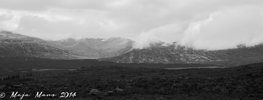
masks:
[[(0, 56), (26, 56), (51, 59), (85, 59), (117, 63), (201, 63), (238, 66), (263, 62), (263, 44), (253, 47), (239, 45), (236, 49), (206, 51), (196, 50), (160, 40), (149, 47), (135, 49), (138, 44), (127, 38), (68, 38), (45, 41), (39, 38), (0, 32)], [(108, 58), (106, 58), (108, 57)]]

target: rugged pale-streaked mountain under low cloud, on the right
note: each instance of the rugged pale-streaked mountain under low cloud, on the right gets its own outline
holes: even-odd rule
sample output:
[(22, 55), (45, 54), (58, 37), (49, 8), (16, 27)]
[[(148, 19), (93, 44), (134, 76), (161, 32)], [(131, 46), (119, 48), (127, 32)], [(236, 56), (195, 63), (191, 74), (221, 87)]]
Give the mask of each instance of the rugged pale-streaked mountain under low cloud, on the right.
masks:
[(238, 66), (263, 62), (262, 50), (263, 44), (254, 47), (239, 46), (237, 49), (206, 51), (178, 46), (174, 42), (168, 46), (149, 47), (98, 60), (117, 63), (205, 63)]

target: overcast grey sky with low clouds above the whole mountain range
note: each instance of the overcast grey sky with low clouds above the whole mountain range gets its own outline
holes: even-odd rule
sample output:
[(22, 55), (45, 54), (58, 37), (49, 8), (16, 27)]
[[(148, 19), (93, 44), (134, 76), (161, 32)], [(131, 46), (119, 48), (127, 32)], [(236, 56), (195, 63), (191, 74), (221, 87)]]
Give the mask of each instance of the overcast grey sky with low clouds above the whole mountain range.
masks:
[(263, 42), (262, 0), (0, 0), (0, 29), (44, 40), (129, 38), (219, 50)]

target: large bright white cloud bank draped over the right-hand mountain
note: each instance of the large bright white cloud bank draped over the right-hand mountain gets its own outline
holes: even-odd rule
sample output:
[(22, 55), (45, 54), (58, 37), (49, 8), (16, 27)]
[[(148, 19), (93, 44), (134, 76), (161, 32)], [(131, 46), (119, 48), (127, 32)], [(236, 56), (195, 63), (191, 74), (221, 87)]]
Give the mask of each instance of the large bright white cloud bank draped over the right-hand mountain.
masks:
[(208, 19), (192, 22), (179, 42), (195, 49), (219, 50), (263, 42), (262, 9), (249, 6), (224, 8)]

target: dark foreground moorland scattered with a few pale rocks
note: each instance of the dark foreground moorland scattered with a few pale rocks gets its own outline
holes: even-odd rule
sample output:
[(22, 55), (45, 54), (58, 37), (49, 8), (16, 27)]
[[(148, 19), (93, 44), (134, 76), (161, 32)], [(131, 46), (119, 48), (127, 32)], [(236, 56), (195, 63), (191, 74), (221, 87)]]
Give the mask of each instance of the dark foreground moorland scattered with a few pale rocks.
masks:
[[(261, 100), (263, 63), (230, 68), (155, 69), (87, 66), (60, 74), (0, 81), (0, 93), (24, 100)], [(35, 98), (37, 92), (57, 94)], [(60, 97), (62, 92), (73, 93)], [(64, 96), (67, 96), (64, 95)], [(60, 97), (60, 98), (59, 98)]]

